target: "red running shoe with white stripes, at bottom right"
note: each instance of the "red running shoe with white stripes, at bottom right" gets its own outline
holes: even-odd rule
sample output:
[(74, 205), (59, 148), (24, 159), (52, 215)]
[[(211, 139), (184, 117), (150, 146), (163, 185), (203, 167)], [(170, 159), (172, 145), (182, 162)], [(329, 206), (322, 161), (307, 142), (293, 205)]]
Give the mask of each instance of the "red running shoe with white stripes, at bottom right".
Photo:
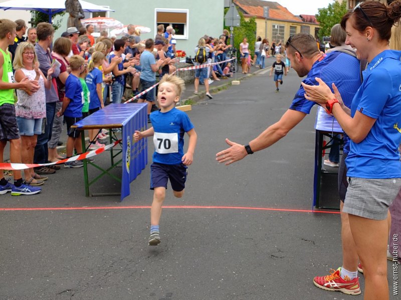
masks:
[(325, 290), (341, 291), (349, 295), (360, 294), (358, 277), (352, 280), (344, 280), (340, 276), (341, 267), (337, 270), (331, 269), (331, 274), (326, 276), (316, 276), (313, 283)]

